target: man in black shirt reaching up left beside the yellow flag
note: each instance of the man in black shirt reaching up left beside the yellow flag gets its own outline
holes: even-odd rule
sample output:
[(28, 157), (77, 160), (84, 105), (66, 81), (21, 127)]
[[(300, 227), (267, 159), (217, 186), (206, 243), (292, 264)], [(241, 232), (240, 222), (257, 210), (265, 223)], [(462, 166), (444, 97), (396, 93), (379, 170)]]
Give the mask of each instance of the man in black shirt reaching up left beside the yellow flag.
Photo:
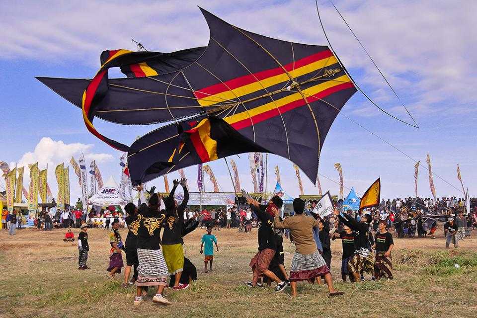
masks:
[[(340, 222), (348, 226), (351, 230), (358, 233), (356, 238), (356, 250), (353, 258), (349, 261), (349, 269), (354, 277), (355, 281), (360, 280), (360, 273), (364, 270), (367, 273), (373, 271), (373, 260), (367, 258), (371, 256), (371, 243), (369, 241), (369, 224), (373, 221), (373, 218), (369, 214), (364, 214), (361, 220), (358, 222), (353, 217), (343, 214), (338, 210), (334, 210), (333, 213), (338, 216)], [(363, 278), (364, 280), (364, 278)]]

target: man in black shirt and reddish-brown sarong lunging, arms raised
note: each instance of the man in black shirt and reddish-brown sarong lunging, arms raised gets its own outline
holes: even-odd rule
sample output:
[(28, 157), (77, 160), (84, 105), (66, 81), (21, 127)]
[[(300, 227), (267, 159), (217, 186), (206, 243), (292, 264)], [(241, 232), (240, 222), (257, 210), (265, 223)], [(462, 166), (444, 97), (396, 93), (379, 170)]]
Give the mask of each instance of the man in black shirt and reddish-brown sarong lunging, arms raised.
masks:
[(247, 202), (255, 215), (261, 221), (258, 228), (258, 252), (250, 260), (249, 266), (252, 268), (252, 281), (247, 283), (249, 287), (262, 286), (260, 277), (266, 276), (277, 283), (276, 292), (281, 292), (287, 287), (287, 283), (283, 282), (272, 271), (268, 269), (270, 263), (275, 256), (277, 249), (277, 241), (273, 233), (272, 224), (274, 214), (272, 208), (281, 209), (283, 200), (278, 196), (274, 196), (268, 202), (268, 205), (260, 205), (258, 201), (248, 198)]

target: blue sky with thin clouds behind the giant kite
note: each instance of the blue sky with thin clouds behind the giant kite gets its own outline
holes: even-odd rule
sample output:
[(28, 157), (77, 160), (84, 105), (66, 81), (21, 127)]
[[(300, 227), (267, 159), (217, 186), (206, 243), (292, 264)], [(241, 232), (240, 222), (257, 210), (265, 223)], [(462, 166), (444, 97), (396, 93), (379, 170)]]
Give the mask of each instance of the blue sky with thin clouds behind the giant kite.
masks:
[[(35, 76), (90, 78), (99, 66), (104, 49), (135, 50), (131, 38), (149, 50), (174, 51), (207, 45), (208, 28), (197, 4), (241, 28), (267, 36), (310, 44), (325, 44), (314, 1), (94, 1), (0, 2), (0, 108), (2, 136), (0, 160), (19, 165), (40, 162), (52, 167), (84, 153), (96, 159), (106, 179), (119, 181), (119, 154), (89, 134), (78, 108), (64, 101), (34, 79)], [(384, 80), (366, 58), (359, 44), (329, 2), (319, 1), (323, 22), (337, 54), (353, 78), (383, 108), (399, 118), (410, 118)], [(410, 157), (421, 160), (430, 154), (433, 171), (456, 188), (460, 163), (464, 185), (475, 196), (477, 31), (474, 2), (435, 1), (336, 1), (360, 40), (408, 105), (420, 125), (403, 125), (378, 111), (360, 93), (342, 113), (385, 139)], [(117, 72), (113, 73), (118, 75)], [(130, 144), (156, 126), (121, 126), (95, 121), (100, 132)], [(241, 184), (252, 190), (246, 155), (236, 160)], [(279, 165), (283, 188), (299, 194), (292, 163), (269, 156), (267, 189), (275, 184)], [(333, 181), (340, 162), (344, 185), (363, 193), (378, 177), (384, 197), (412, 196), (414, 162), (363, 128), (338, 116), (321, 152), (319, 173)], [(223, 159), (212, 162), (221, 188), (232, 190)], [(53, 169), (49, 184), (56, 194)], [(185, 170), (192, 191), (197, 189), (196, 167)], [(26, 173), (27, 174), (27, 173)], [(177, 177), (172, 173), (169, 180)], [(73, 172), (72, 197), (79, 196)], [(306, 193), (317, 193), (302, 173)], [(335, 182), (320, 177), (324, 191), (338, 191)], [(25, 175), (25, 186), (29, 177)], [(438, 196), (462, 196), (434, 176)], [(162, 179), (156, 184), (163, 189)], [(210, 183), (206, 185), (211, 190)], [(347, 192), (347, 190), (345, 190)], [(427, 170), (420, 168), (418, 192), (430, 196)], [(346, 193), (345, 193), (346, 194)]]

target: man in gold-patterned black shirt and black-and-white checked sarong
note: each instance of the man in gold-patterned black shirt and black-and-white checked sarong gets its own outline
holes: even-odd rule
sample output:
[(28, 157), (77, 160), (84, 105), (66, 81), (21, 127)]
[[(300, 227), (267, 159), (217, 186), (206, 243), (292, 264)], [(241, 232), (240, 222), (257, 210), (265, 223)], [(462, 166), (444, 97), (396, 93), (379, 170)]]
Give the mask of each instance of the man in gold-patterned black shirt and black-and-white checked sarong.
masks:
[(167, 286), (169, 275), (167, 264), (160, 250), (160, 229), (165, 219), (165, 213), (159, 212), (159, 196), (155, 193), (149, 199), (149, 207), (141, 205), (138, 216), (138, 279), (136, 280), (137, 293), (134, 305), (143, 302), (143, 287), (156, 288), (153, 302), (160, 305), (170, 305), (170, 302), (162, 296)]

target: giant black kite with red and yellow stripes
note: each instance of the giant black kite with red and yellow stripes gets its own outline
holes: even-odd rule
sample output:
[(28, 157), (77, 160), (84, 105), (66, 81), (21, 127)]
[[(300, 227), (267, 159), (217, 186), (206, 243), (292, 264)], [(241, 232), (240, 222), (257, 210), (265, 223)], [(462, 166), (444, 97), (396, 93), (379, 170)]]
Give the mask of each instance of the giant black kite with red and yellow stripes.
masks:
[[(327, 46), (272, 39), (201, 10), (210, 29), (205, 48), (105, 51), (92, 80), (40, 80), (82, 108), (89, 131), (128, 151), (134, 184), (246, 152), (282, 156), (316, 180), (326, 134), (356, 92), (337, 57)], [(107, 79), (111, 67), (128, 78)], [(121, 124), (174, 123), (128, 147), (97, 132), (95, 116)]]

